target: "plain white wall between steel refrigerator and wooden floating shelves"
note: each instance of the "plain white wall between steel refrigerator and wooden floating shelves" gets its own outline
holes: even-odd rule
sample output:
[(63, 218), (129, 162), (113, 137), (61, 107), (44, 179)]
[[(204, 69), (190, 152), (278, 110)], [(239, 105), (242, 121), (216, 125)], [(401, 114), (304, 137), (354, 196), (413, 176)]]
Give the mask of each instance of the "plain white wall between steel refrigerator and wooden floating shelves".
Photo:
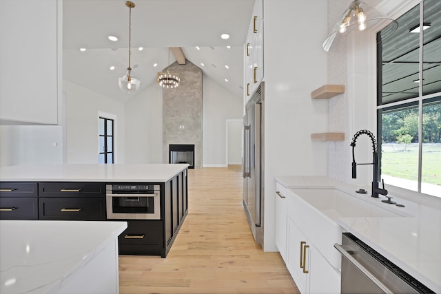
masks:
[[(326, 132), (326, 103), (311, 91), (326, 83), (327, 2), (264, 1), (265, 215), (264, 250), (275, 244), (275, 176), (325, 176), (327, 145), (311, 141)], [(311, 16), (314, 21), (311, 21)]]

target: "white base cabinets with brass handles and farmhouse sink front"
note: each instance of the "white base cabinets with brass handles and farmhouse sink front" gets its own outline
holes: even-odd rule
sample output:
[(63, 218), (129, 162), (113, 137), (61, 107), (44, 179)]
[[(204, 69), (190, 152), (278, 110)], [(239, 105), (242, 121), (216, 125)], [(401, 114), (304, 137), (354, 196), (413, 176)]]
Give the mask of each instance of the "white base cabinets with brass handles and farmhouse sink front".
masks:
[(311, 241), (304, 204), (278, 182), (276, 189), (276, 246), (300, 293), (340, 293), (340, 272)]

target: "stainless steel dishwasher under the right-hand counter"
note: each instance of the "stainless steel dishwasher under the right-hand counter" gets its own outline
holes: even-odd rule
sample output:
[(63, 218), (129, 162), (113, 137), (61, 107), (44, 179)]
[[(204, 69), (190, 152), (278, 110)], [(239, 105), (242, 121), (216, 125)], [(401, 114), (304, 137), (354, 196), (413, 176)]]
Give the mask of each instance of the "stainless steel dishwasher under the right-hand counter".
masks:
[(334, 247), (342, 254), (341, 293), (435, 293), (351, 233)]

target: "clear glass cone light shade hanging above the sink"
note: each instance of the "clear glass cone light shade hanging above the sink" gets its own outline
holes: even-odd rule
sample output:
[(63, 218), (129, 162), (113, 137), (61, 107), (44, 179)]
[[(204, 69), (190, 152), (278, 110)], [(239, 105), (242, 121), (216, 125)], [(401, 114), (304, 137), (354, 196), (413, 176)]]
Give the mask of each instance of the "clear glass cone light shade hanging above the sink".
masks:
[(371, 8), (371, 6), (363, 1), (354, 0), (349, 4), (349, 7), (342, 17), (338, 19), (325, 41), (323, 41), (322, 48), (328, 52), (338, 36), (345, 36), (354, 30), (362, 32), (367, 28), (372, 28), (378, 23), (382, 23), (384, 26), (389, 25), (389, 33), (395, 32), (398, 28), (398, 23), (394, 19)]

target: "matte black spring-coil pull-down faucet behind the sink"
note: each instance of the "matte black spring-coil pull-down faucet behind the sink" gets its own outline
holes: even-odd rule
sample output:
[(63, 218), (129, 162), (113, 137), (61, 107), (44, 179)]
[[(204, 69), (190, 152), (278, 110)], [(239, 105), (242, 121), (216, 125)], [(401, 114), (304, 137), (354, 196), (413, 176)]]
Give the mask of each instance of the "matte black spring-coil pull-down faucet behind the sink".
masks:
[(372, 180), (372, 194), (371, 197), (378, 198), (378, 195), (387, 195), (387, 190), (384, 189), (384, 181), (382, 181), (383, 187), (382, 189), (378, 187), (378, 151), (377, 151), (377, 143), (375, 140), (375, 136), (368, 131), (367, 129), (362, 129), (358, 132), (356, 132), (355, 135), (353, 135), (351, 146), (352, 146), (352, 178), (357, 178), (357, 162), (356, 157), (354, 154), (354, 149), (356, 147), (356, 140), (357, 138), (362, 135), (366, 134), (371, 138), (372, 141), (372, 149), (373, 149), (373, 160), (372, 163), (358, 163), (358, 165), (373, 165), (373, 180)]

